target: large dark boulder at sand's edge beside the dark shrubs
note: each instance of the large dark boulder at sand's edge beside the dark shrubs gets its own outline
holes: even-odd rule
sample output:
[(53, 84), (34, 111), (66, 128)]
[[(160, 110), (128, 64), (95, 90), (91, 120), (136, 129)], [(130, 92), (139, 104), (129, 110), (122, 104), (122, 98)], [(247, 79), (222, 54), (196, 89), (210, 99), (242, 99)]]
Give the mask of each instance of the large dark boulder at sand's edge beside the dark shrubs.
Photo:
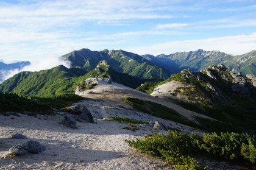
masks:
[(64, 109), (66, 112), (71, 113), (72, 115), (79, 116), (80, 119), (84, 121), (93, 123), (93, 116), (91, 112), (85, 105), (73, 105)]

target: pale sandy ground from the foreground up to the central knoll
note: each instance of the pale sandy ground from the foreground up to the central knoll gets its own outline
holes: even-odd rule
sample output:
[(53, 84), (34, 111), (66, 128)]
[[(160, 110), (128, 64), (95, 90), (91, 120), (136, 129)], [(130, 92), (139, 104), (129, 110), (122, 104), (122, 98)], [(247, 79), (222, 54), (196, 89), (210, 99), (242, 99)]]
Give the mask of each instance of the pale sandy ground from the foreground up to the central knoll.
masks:
[[(102, 93), (102, 89), (107, 91), (112, 88), (113, 91), (103, 94), (79, 93), (81, 96), (91, 98), (77, 104), (86, 105), (97, 124), (77, 122), (78, 129), (70, 129), (58, 123), (63, 117), (62, 113), (54, 116), (37, 115), (36, 118), (27, 115), (20, 115), (21, 117), (0, 115), (0, 169), (172, 169), (161, 160), (136, 152), (124, 141), (143, 138), (144, 135), (152, 132), (165, 132), (155, 130), (148, 125), (138, 125), (139, 130), (132, 132), (122, 129), (130, 126), (129, 124), (105, 120), (108, 115), (152, 122), (162, 121), (166, 126), (183, 132), (202, 135), (203, 132), (200, 130), (137, 112), (122, 101), (124, 96), (135, 94), (140, 94), (142, 99), (153, 100), (154, 97), (148, 97), (148, 94), (129, 88), (122, 90), (121, 85), (110, 86), (112, 87), (96, 86), (94, 93), (97, 92), (97, 88), (101, 88), (98, 93)], [(14, 133), (21, 133), (29, 139), (7, 138)], [(46, 146), (46, 151), (41, 154), (5, 157), (10, 147), (28, 140), (40, 142)], [(215, 161), (207, 161), (207, 164), (213, 169), (244, 169)]]

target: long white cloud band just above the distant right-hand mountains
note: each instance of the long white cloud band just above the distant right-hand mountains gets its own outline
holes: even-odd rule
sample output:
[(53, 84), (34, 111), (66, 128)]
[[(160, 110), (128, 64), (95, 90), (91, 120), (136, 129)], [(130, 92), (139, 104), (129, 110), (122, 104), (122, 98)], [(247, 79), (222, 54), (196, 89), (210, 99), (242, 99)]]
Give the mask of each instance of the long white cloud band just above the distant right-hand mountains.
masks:
[(207, 38), (202, 40), (168, 41), (166, 43), (152, 44), (151, 46), (140, 46), (127, 48), (126, 50), (143, 54), (171, 54), (182, 51), (221, 51), (227, 54), (244, 54), (256, 49), (256, 32), (249, 35), (233, 35), (227, 37)]

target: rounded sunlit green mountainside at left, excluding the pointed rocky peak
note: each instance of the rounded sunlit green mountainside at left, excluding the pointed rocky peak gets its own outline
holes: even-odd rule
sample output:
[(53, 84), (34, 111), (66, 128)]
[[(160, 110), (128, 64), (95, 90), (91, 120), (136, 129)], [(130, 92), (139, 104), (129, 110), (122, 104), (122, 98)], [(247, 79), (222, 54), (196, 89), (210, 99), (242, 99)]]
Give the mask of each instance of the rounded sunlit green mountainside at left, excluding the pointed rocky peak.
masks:
[(62, 65), (39, 72), (21, 72), (2, 82), (0, 91), (40, 97), (73, 93), (74, 77), (85, 73), (82, 69)]

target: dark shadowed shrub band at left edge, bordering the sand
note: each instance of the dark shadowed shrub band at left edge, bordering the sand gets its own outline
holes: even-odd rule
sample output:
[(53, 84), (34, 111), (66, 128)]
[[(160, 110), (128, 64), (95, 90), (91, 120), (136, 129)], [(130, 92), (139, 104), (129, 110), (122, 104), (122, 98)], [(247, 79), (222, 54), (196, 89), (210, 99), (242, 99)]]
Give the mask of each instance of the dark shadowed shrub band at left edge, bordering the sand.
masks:
[(83, 99), (75, 94), (66, 94), (49, 98), (25, 97), (13, 93), (0, 92), (0, 113), (4, 112), (31, 112), (39, 114), (52, 114), (51, 107), (60, 109), (67, 107), (73, 102)]

